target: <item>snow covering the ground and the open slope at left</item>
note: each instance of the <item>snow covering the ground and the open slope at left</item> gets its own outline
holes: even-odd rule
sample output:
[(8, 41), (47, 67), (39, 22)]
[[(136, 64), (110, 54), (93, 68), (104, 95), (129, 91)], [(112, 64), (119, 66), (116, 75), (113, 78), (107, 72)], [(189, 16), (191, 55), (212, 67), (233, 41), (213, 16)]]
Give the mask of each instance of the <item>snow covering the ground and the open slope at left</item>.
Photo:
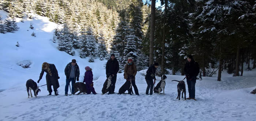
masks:
[[(0, 13), (2, 16), (5, 14), (3, 11)], [(34, 30), (29, 29), (31, 21)], [(18, 26), (20, 29), (15, 33), (0, 34), (0, 121), (256, 121), (256, 95), (249, 93), (256, 88), (256, 69), (244, 71), (244, 76), (238, 77), (223, 71), (221, 82), (216, 81), (217, 75), (197, 80), (197, 101), (176, 99), (177, 82), (171, 80), (184, 78), (179, 75), (167, 75), (165, 95), (146, 95), (147, 84), (141, 75), (146, 70), (136, 75), (139, 96), (101, 95), (106, 79), (106, 60), (96, 59), (95, 63), (89, 63), (87, 58), (79, 57), (78, 50), (75, 50), (75, 56), (57, 50), (57, 44), (50, 41), (57, 24), (45, 17), (35, 16), (33, 20), (19, 22)], [(31, 36), (33, 31), (37, 37)], [(17, 41), (20, 47), (15, 46)], [(64, 68), (73, 58), (80, 67), (80, 82), (84, 67), (93, 69), (97, 95), (64, 96)], [(23, 61), (31, 62), (30, 68), (17, 65)], [(26, 81), (38, 80), (43, 62), (56, 65), (60, 76), (60, 95), (47, 96), (46, 86), (43, 86), (37, 98), (27, 98)], [(118, 73), (115, 92), (124, 82), (123, 73)], [(39, 86), (43, 84), (46, 84), (45, 74)]]

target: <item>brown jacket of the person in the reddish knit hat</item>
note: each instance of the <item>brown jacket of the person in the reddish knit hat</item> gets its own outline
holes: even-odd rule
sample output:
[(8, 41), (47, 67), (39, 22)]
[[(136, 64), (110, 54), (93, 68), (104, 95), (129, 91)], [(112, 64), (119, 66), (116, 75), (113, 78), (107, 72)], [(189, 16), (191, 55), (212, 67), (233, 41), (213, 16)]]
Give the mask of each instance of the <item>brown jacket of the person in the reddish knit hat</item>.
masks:
[(125, 67), (124, 67), (124, 79), (127, 79), (128, 76), (132, 75), (133, 76), (132, 80), (135, 80), (136, 73), (137, 73), (137, 68), (136, 68), (136, 65), (133, 61), (132, 61), (131, 65), (129, 65), (129, 64), (125, 65)]

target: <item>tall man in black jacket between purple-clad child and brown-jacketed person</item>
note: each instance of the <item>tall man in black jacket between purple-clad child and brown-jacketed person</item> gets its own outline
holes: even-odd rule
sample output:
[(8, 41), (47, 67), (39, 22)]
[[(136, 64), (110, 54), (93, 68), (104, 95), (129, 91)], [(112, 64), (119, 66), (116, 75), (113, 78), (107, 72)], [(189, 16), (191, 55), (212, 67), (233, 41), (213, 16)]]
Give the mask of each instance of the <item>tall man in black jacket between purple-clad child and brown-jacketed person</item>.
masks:
[(109, 94), (114, 94), (115, 90), (115, 85), (116, 85), (116, 77), (117, 77), (117, 72), (119, 71), (119, 63), (115, 58), (114, 54), (111, 54), (110, 59), (108, 60), (106, 64), (106, 75), (107, 78), (111, 75), (112, 80), (111, 80), (111, 85), (110, 88), (112, 88), (112, 92), (109, 92)]

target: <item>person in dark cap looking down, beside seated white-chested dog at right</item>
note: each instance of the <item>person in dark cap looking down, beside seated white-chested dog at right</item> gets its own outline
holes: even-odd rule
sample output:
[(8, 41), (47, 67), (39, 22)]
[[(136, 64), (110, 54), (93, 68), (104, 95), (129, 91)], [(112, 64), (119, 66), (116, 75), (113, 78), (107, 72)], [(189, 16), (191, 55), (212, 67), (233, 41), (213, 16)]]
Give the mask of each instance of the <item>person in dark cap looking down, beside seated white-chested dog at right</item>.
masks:
[[(147, 82), (146, 95), (148, 95), (149, 89), (150, 89), (150, 95), (153, 94), (153, 88), (154, 88), (154, 82), (155, 82), (155, 71), (158, 66), (159, 66), (158, 63), (154, 63), (154, 65), (152, 65), (147, 69), (147, 74), (145, 76), (145, 79)], [(154, 82), (153, 82), (153, 79), (154, 79)]]

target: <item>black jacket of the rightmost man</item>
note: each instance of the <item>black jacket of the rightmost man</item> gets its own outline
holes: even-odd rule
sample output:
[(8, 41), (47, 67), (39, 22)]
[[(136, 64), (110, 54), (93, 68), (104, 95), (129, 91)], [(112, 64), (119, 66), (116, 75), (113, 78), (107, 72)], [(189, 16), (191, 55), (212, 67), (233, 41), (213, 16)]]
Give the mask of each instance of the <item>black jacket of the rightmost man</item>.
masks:
[(184, 66), (184, 72), (187, 76), (187, 79), (196, 79), (200, 71), (199, 64), (195, 62), (193, 59), (190, 62), (186, 62)]

